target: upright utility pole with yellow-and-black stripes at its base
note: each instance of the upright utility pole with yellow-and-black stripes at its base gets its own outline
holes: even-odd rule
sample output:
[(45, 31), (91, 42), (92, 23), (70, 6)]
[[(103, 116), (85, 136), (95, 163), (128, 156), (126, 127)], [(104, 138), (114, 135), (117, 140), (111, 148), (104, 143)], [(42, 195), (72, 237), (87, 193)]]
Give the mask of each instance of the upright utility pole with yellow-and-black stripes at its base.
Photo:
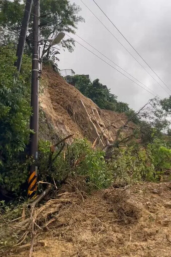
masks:
[(33, 55), (32, 55), (32, 90), (31, 107), (32, 116), (30, 129), (34, 134), (30, 136), (30, 156), (34, 162), (30, 166), (28, 197), (33, 198), (37, 193), (37, 173), (38, 173), (38, 132), (39, 132), (39, 17), (40, 0), (34, 0), (34, 20), (33, 20)]

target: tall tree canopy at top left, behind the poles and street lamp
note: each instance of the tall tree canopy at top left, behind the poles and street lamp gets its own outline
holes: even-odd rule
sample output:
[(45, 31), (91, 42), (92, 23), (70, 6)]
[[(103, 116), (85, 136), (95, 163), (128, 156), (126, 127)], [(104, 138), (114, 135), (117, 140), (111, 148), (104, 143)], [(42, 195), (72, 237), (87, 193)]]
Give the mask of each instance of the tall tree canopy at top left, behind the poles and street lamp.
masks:
[[(19, 35), (25, 3), (21, 0), (15, 0), (14, 3), (15, 5), (13, 5), (11, 1), (0, 0), (0, 28)], [(84, 21), (84, 19), (78, 15), (80, 10), (79, 6), (70, 4), (68, 0), (42, 0), (41, 15), (44, 16), (44, 20), (40, 19), (40, 38), (55, 37), (60, 31), (75, 34), (77, 24)], [(30, 17), (26, 39), (27, 53), (31, 53), (32, 50), (32, 24), (33, 15)], [(4, 32), (2, 32), (2, 34), (3, 37), (0, 42), (17, 42), (18, 37), (7, 35), (7, 33)], [(60, 45), (64, 49), (67, 48), (70, 52), (73, 51), (73, 47), (75, 46), (73, 39), (64, 39)], [(43, 56), (55, 61), (55, 59), (58, 59), (56, 58), (56, 54), (59, 54), (59, 51), (51, 48), (51, 44), (46, 41), (43, 48)]]

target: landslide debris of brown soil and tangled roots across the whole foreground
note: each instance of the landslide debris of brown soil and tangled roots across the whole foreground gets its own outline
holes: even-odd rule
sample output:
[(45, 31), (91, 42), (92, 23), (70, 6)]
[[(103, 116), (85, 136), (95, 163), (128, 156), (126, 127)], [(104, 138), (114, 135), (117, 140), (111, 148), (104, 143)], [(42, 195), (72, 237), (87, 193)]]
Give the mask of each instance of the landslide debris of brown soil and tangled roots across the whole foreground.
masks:
[(12, 234), (20, 240), (1, 256), (29, 256), (31, 244), (34, 257), (169, 256), (170, 183), (110, 188), (92, 195), (83, 193), (81, 184), (79, 190), (73, 185), (75, 181), (68, 181), (58, 196), (30, 210), (29, 218), (2, 221), (4, 230), (11, 229), (9, 240)]

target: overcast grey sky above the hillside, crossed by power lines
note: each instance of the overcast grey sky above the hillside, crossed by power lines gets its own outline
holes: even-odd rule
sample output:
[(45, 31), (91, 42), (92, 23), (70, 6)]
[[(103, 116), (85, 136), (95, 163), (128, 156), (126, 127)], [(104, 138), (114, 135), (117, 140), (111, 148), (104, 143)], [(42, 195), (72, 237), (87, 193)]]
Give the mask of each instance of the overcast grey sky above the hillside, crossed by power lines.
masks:
[[(161, 84), (168, 93), (166, 86), (156, 77), (148, 66), (138, 57), (133, 49), (121, 37), (113, 25), (101, 13), (92, 0), (83, 0), (91, 11), (105, 24), (116, 38), (129, 52), (145, 67), (145, 69)], [(171, 1), (170, 0), (96, 0), (97, 4), (122, 32), (126, 39), (134, 46), (138, 53), (146, 60), (151, 68), (171, 89)], [(113, 38), (100, 24), (80, 0), (71, 0), (82, 9), (80, 15), (85, 23), (78, 25), (77, 35), (86, 40), (116, 64), (121, 66), (135, 78), (152, 89), (160, 97), (167, 97), (168, 93), (162, 89), (154, 79), (129, 55), (129, 53)], [(77, 36), (78, 42), (99, 55), (94, 49), (86, 45)], [(104, 56), (105, 61), (116, 67)], [(109, 65), (88, 52), (76, 43), (73, 53), (62, 51), (59, 62), (60, 69), (73, 69), (76, 74), (89, 74), (91, 79), (99, 78), (100, 82), (111, 88), (111, 92), (118, 96), (118, 100), (129, 103), (137, 110), (153, 96), (134, 84), (129, 79), (115, 71)], [(117, 67), (116, 67), (117, 68)]]

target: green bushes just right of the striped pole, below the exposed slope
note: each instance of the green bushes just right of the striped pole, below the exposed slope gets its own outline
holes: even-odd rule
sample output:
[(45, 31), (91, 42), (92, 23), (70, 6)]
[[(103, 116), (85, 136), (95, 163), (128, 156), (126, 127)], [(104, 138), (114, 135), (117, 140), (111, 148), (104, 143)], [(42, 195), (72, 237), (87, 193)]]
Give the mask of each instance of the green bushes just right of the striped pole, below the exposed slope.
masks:
[(48, 164), (51, 155), (50, 144), (41, 142), (39, 150), (42, 157), (39, 169), (41, 180), (52, 182), (54, 178), (60, 183), (68, 175), (79, 175), (85, 178), (90, 188), (103, 188), (111, 184), (112, 176), (107, 169), (104, 152), (92, 149), (86, 139), (75, 140), (68, 146), (65, 158), (64, 153), (61, 153), (55, 161), (53, 157), (51, 169)]

